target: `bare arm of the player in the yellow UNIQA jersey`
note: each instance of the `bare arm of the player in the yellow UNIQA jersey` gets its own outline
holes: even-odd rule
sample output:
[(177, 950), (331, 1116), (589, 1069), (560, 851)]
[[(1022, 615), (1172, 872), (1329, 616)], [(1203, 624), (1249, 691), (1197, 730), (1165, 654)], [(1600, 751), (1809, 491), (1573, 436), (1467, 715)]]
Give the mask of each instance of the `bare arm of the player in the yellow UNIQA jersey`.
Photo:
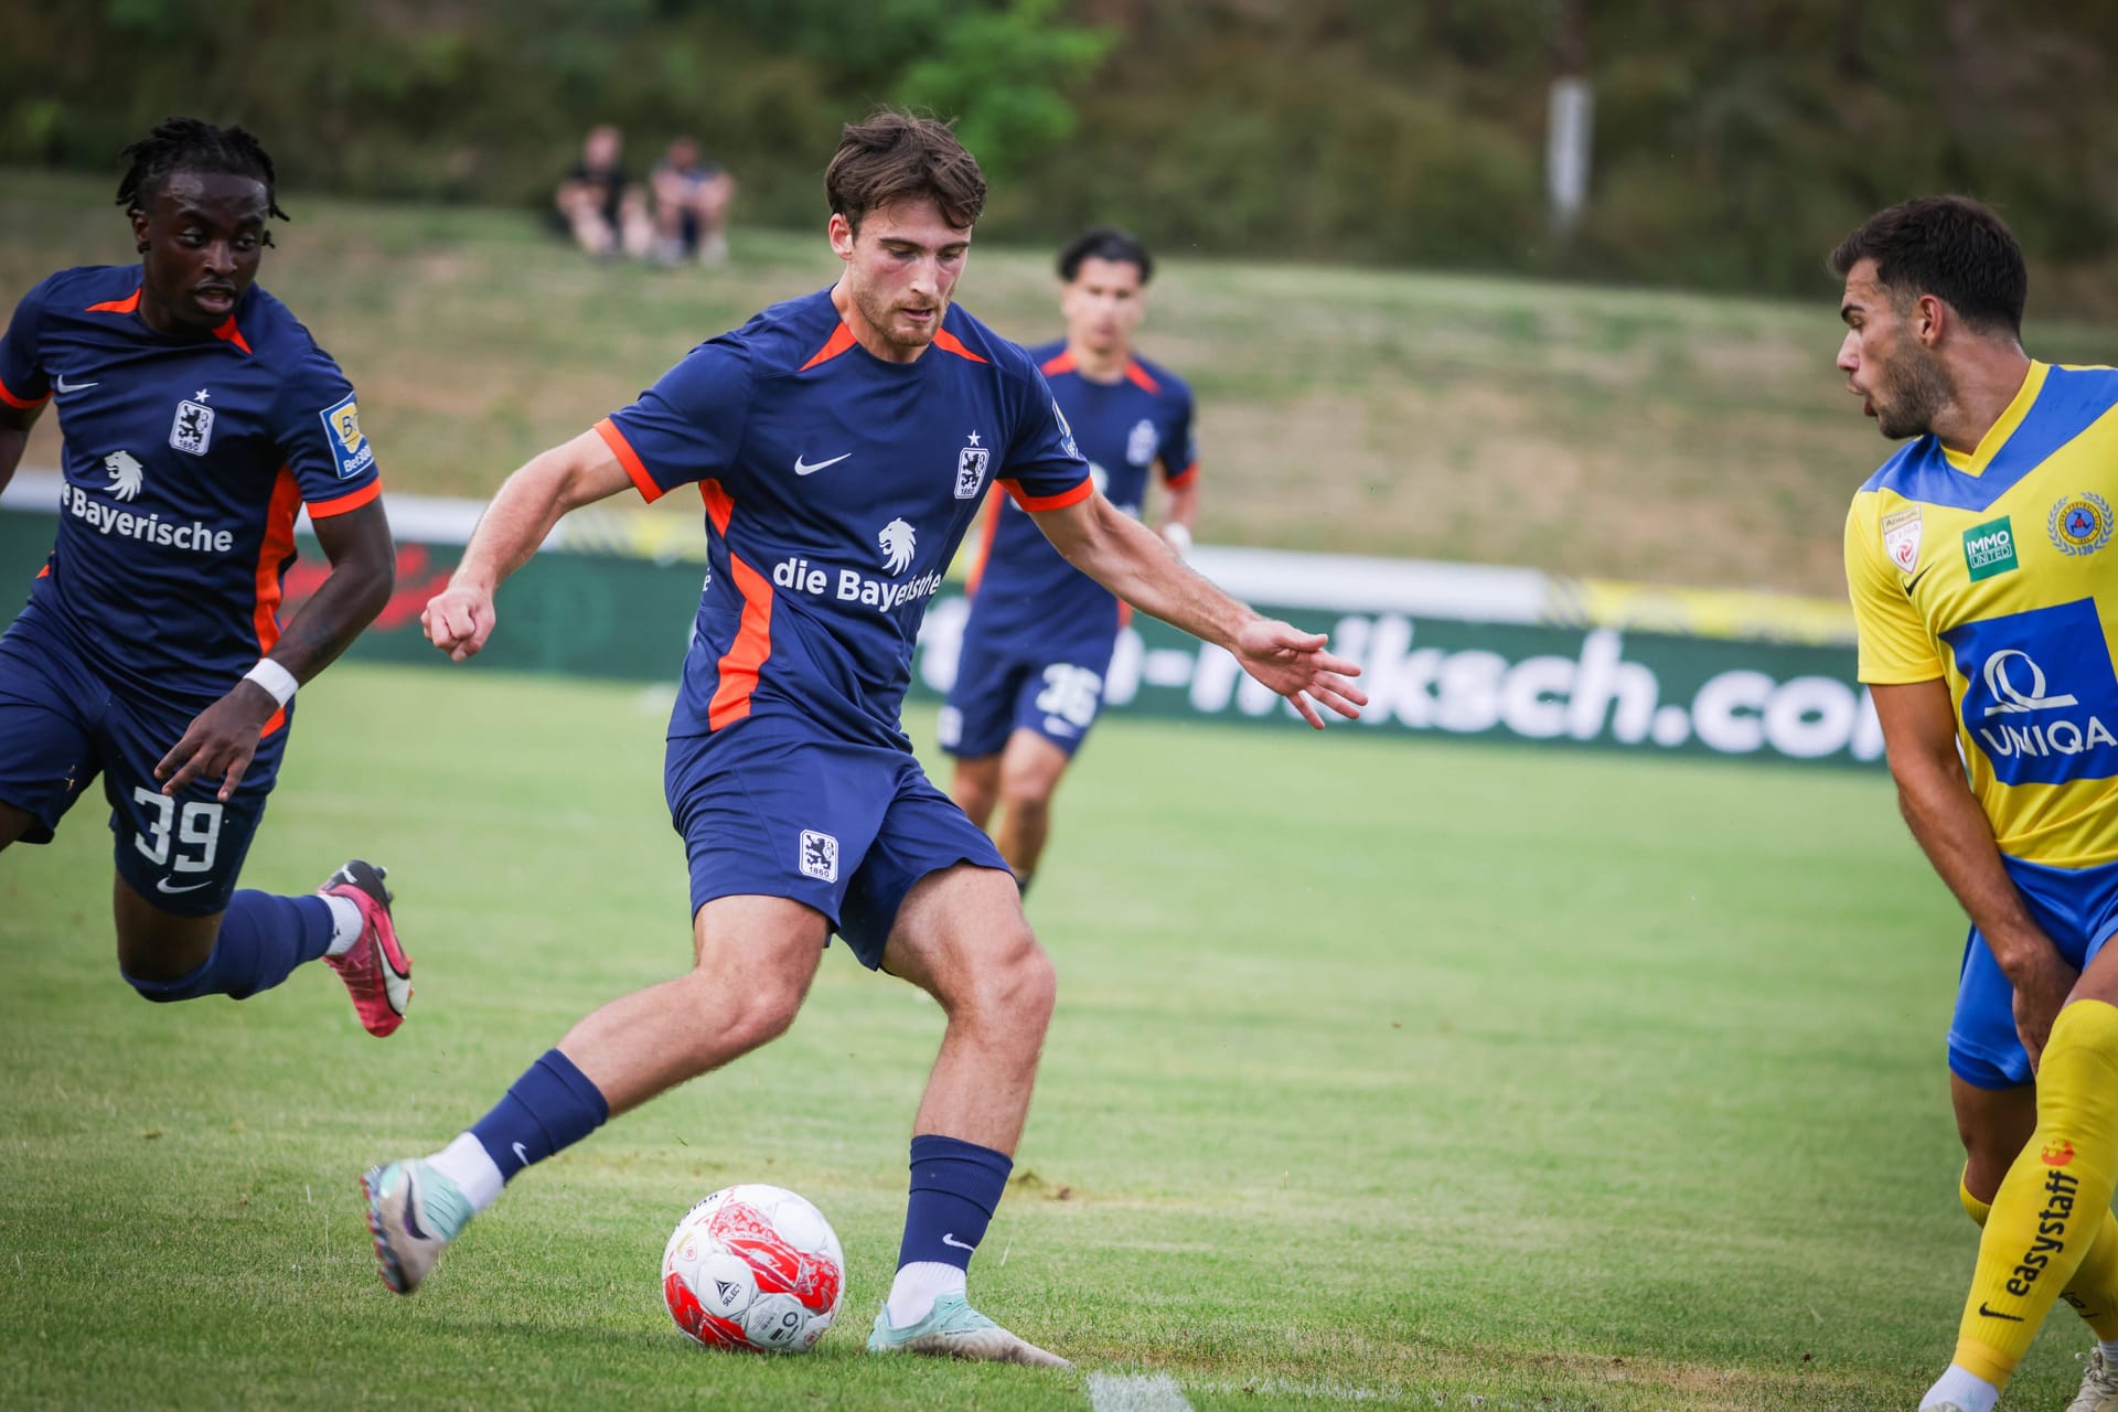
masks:
[(1963, 779), (1949, 684), (1936, 677), (1870, 690), (1898, 781), (1898, 809), (2014, 984), (2014, 1025), (2035, 1065), (2076, 974), (2002, 868), (1993, 823)]

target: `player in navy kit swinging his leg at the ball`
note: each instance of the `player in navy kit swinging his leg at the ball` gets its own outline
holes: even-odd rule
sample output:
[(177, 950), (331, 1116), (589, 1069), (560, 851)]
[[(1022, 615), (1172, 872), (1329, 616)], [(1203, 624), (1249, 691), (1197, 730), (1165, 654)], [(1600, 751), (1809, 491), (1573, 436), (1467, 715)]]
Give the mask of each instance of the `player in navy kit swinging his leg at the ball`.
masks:
[[(847, 127), (824, 186), (839, 284), (699, 345), (515, 472), (428, 603), (434, 646), (466, 658), (493, 631), (493, 589), (566, 510), (699, 487), (707, 584), (665, 779), (697, 965), (578, 1022), (445, 1149), (369, 1171), (369, 1228), (383, 1281), (413, 1289), (519, 1171), (779, 1035), (837, 931), (947, 1016), (868, 1348), (1063, 1365), (964, 1298), (1055, 982), (1004, 859), (898, 724), (926, 601), (1000, 481), (1074, 563), (1226, 646), (1311, 724), (1317, 703), (1353, 716), (1364, 696), (1324, 637), (1252, 614), (1095, 495), (1036, 364), (951, 303), (985, 180), (945, 125)], [(741, 1313), (731, 1289), (697, 1317)]]

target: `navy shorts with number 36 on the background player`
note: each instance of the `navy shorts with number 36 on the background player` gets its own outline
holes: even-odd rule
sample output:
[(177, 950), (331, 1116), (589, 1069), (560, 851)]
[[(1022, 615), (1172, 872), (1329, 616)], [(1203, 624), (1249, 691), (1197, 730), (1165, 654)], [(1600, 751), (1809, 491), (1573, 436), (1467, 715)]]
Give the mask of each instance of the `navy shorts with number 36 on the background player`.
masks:
[(998, 756), (1017, 730), (1036, 730), (1074, 754), (1103, 709), (1116, 637), (1076, 644), (1006, 644), (964, 633), (955, 686), (934, 735), (959, 760)]

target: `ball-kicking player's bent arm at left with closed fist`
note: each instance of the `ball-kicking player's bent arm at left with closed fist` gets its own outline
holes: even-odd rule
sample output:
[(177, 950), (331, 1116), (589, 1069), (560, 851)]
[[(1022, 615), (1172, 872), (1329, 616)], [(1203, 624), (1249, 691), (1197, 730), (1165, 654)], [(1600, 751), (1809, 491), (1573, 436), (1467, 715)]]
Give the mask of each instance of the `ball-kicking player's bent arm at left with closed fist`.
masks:
[(625, 466), (595, 432), (534, 455), (485, 506), (449, 586), (419, 614), (428, 641), (457, 663), (479, 652), (493, 635), (493, 593), (500, 582), (530, 563), (559, 517), (608, 500), (629, 485)]

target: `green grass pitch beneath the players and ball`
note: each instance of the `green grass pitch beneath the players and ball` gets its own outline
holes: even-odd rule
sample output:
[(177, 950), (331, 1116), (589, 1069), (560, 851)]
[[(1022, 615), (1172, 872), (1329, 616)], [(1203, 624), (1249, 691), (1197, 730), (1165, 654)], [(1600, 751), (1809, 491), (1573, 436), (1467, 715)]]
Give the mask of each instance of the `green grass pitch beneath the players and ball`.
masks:
[[(8, 851), (0, 1406), (1097, 1401), (860, 1353), (940, 1016), (837, 948), (782, 1042), (517, 1181), (419, 1296), (377, 1283), (358, 1171), (686, 963), (663, 711), (477, 667), (305, 692), (246, 883), (392, 866), (419, 997), (390, 1042), (322, 967), (133, 997), (100, 800)], [(1084, 1374), (1195, 1408), (1902, 1410), (1946, 1361), (1961, 923), (1879, 773), (1108, 722), (1029, 915), (1059, 1014), (972, 1289)], [(807, 1359), (661, 1308), (669, 1226), (741, 1179), (845, 1243)], [(2006, 1406), (2061, 1406), (2086, 1346), (2059, 1310)]]

